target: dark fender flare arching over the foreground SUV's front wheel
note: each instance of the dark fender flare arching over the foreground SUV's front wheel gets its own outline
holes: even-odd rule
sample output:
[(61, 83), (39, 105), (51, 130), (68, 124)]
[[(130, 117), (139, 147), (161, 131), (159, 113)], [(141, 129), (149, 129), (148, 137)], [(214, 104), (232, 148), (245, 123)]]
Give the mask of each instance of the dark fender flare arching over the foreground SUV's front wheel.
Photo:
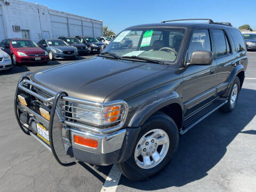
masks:
[(178, 103), (183, 111), (183, 102), (180, 95), (175, 91), (165, 92), (149, 99), (135, 112), (128, 126), (139, 127), (143, 125), (156, 111), (172, 103)]

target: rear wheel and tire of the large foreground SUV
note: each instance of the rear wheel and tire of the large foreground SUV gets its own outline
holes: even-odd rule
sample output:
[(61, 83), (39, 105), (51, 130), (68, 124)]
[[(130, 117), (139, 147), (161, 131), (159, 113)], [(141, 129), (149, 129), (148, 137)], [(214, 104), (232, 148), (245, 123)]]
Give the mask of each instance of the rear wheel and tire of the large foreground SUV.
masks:
[(238, 95), (240, 92), (240, 79), (236, 76), (235, 81), (229, 93), (228, 102), (220, 108), (223, 113), (228, 113), (236, 107)]

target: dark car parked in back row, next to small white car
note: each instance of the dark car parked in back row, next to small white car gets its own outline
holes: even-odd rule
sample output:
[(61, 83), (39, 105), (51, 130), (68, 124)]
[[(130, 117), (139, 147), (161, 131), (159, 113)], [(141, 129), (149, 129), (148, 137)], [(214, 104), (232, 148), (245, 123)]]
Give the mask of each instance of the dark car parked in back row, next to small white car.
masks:
[(76, 36), (82, 43), (84, 43), (91, 53), (100, 52), (100, 47), (105, 46), (105, 43), (100, 43), (94, 37)]

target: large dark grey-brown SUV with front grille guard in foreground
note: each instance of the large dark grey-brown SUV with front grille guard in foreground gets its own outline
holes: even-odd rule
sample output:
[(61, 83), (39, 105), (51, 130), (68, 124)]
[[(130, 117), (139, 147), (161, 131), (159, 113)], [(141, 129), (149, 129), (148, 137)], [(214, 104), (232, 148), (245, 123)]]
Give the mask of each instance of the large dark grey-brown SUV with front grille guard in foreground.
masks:
[[(131, 36), (132, 49), (111, 46)], [(25, 74), (14, 111), (61, 165), (117, 163), (142, 180), (167, 166), (179, 135), (217, 109), (234, 110), (247, 63), (230, 23), (133, 26), (90, 60)]]

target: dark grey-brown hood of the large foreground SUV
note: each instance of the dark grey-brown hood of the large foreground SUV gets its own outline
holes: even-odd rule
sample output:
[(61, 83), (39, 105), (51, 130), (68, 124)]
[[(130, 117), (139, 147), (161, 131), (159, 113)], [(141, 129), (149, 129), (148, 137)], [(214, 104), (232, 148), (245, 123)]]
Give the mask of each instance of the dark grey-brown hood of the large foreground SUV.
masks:
[(95, 57), (37, 71), (31, 80), (56, 92), (65, 91), (70, 97), (104, 102), (125, 85), (166, 68), (154, 63)]

